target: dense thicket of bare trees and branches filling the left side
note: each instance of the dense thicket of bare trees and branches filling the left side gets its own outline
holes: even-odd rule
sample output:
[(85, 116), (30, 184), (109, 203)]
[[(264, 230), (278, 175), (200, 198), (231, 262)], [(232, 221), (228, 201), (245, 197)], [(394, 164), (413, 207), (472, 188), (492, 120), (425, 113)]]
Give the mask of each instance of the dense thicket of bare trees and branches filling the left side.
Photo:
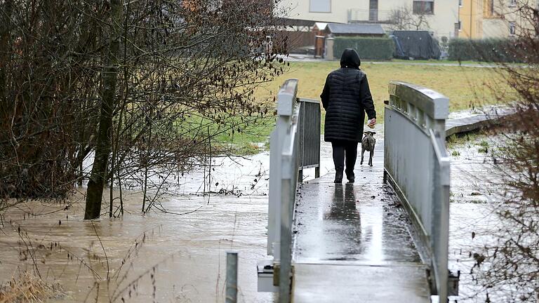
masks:
[(270, 112), (253, 89), (283, 72), (274, 15), (265, 0), (0, 1), (0, 199), (87, 179), (85, 218), (105, 184), (112, 216), (131, 178), (149, 210), (152, 173), (181, 173)]

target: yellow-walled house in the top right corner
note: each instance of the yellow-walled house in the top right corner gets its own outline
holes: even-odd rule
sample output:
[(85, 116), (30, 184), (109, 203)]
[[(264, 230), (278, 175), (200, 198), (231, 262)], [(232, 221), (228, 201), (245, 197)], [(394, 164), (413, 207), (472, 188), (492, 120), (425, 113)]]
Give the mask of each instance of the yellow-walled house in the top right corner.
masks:
[(519, 10), (522, 4), (539, 8), (538, 0), (459, 0), (461, 38), (508, 38), (521, 29), (531, 28), (531, 21)]

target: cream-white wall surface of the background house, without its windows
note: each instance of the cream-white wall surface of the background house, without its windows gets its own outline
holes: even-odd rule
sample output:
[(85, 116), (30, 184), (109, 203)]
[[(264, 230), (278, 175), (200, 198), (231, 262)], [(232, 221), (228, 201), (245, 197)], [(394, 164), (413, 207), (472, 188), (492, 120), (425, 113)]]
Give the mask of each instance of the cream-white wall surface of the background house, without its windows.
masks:
[[(282, 0), (279, 8), (288, 11), (285, 17), (291, 19), (347, 23), (348, 11), (352, 10), (358, 19), (368, 20), (368, 0), (330, 1), (331, 13), (310, 12), (310, 0)], [(401, 6), (408, 6), (411, 10), (412, 5), (413, 0), (379, 0), (378, 20), (387, 18), (390, 11)], [(434, 0), (434, 15), (429, 18), (429, 25), (436, 36), (453, 36), (457, 22), (458, 0)]]

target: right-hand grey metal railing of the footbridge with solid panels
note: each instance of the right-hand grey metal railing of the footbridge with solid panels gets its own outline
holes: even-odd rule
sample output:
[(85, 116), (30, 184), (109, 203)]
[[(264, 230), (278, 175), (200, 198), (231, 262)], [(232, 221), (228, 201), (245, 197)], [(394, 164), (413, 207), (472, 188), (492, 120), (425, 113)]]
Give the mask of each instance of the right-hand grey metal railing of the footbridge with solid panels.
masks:
[(445, 302), (451, 164), (445, 148), (445, 123), (449, 100), (434, 90), (404, 82), (391, 82), (389, 90), (384, 182), (399, 195), (415, 225), (432, 268), (432, 290), (439, 302)]

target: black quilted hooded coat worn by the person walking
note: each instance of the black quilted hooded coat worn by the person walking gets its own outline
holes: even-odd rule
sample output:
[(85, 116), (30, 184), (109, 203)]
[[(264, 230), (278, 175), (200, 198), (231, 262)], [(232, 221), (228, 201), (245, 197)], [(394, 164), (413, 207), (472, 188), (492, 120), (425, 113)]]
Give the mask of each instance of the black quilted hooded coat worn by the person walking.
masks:
[(365, 112), (376, 117), (367, 75), (359, 69), (361, 60), (356, 50), (347, 48), (340, 58), (340, 69), (331, 72), (320, 95), (326, 109), (326, 142), (361, 142)]

